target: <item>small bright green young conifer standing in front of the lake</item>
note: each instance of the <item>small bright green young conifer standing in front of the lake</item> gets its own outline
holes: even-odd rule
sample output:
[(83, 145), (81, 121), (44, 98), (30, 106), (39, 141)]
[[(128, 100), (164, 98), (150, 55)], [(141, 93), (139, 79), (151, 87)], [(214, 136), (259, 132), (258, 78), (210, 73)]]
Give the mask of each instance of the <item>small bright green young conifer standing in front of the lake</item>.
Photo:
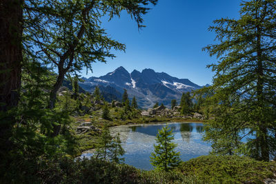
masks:
[(172, 170), (177, 167), (180, 163), (179, 152), (175, 152), (175, 147), (177, 144), (172, 143), (175, 139), (172, 134), (172, 130), (166, 125), (161, 130), (158, 131), (157, 145), (154, 145), (155, 152), (150, 156), (150, 163), (156, 167), (157, 170)]

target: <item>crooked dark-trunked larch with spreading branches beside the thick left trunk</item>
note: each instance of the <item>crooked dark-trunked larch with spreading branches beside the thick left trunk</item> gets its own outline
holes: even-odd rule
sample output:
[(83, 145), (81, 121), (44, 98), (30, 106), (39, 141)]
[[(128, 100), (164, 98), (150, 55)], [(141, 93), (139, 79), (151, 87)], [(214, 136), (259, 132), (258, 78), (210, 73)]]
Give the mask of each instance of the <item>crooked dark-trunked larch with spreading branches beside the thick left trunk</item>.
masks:
[[(66, 74), (92, 70), (93, 62), (114, 58), (110, 50), (125, 50), (125, 45), (111, 39), (101, 26), (103, 17), (130, 14), (138, 28), (143, 15), (157, 0), (26, 0), (23, 3), (24, 41), (26, 54), (57, 70), (57, 79), (49, 94), (48, 108), (55, 108), (57, 91)], [(59, 134), (53, 125), (52, 136)]]

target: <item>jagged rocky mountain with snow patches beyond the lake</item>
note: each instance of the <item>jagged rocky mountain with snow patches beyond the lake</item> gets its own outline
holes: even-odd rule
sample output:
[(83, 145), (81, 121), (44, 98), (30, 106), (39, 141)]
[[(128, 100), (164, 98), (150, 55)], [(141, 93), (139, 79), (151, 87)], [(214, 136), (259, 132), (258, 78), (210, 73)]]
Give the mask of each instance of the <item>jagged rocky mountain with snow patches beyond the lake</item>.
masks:
[(183, 92), (202, 88), (188, 79), (178, 79), (165, 72), (144, 69), (141, 72), (133, 70), (129, 73), (122, 66), (104, 76), (92, 76), (83, 80), (79, 85), (84, 90), (93, 92), (98, 85), (101, 92), (112, 94), (116, 99), (121, 99), (126, 89), (130, 99), (136, 97), (140, 108), (152, 108), (156, 102), (170, 107), (172, 99), (177, 99), (179, 103)]

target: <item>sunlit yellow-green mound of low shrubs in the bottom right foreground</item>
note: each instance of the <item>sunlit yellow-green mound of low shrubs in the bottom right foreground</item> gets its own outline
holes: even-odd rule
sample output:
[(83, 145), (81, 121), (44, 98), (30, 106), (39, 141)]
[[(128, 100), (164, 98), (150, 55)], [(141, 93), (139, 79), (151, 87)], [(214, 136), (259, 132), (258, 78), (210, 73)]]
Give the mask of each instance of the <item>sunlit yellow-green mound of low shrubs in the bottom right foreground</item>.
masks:
[(274, 178), (275, 166), (243, 156), (210, 155), (183, 162), (178, 170), (205, 183), (263, 183)]

